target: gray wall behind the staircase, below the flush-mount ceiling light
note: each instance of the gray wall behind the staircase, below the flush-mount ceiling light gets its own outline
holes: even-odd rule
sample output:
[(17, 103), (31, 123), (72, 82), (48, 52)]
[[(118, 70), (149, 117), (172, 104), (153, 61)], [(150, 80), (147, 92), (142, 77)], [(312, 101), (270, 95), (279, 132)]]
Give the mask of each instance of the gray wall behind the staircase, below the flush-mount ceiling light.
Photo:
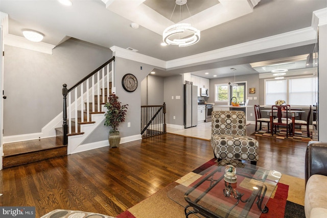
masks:
[(111, 57), (111, 50), (75, 39), (52, 55), (5, 45), (4, 136), (41, 132), (62, 111), (62, 84), (73, 86)]

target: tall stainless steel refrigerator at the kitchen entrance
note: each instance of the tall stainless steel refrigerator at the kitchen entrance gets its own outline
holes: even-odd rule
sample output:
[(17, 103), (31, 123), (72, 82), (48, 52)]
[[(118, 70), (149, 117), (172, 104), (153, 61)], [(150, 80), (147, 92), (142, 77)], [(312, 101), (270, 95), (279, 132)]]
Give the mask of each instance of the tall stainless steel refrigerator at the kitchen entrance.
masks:
[(184, 85), (184, 128), (198, 125), (198, 87)]

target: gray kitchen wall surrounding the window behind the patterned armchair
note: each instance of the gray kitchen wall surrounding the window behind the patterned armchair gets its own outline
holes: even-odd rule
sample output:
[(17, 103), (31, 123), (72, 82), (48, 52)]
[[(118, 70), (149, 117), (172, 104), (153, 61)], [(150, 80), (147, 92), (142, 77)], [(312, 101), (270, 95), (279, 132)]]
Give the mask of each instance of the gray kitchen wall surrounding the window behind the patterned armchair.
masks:
[[(209, 90), (210, 96), (209, 96), (207, 102), (215, 102), (215, 84), (228, 83), (228, 82), (233, 82), (233, 81), (234, 81), (234, 76), (211, 79), (210, 80), (210, 90)], [(235, 81), (236, 82), (247, 81), (246, 96), (252, 97), (252, 98), (256, 97), (256, 100), (250, 100), (248, 105), (259, 104), (261, 99), (264, 97), (264, 94), (262, 93), (263, 92), (262, 86), (260, 86), (260, 84), (259, 84), (259, 74), (236, 76)], [(249, 94), (249, 88), (255, 88), (255, 94)], [(218, 104), (216, 103), (216, 105), (218, 105)], [(255, 121), (254, 107), (248, 107), (247, 113), (248, 113), (247, 120)], [(250, 116), (250, 113), (252, 113), (252, 116)]]

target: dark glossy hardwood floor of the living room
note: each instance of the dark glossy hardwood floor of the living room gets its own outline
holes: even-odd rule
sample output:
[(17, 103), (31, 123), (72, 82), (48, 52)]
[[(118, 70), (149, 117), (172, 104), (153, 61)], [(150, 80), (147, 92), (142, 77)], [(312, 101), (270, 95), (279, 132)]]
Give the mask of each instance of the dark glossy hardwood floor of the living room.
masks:
[[(307, 143), (257, 139), (259, 166), (304, 178)], [(35, 206), (36, 217), (54, 209), (116, 216), (213, 157), (208, 140), (168, 133), (14, 166), (0, 171), (0, 203)]]

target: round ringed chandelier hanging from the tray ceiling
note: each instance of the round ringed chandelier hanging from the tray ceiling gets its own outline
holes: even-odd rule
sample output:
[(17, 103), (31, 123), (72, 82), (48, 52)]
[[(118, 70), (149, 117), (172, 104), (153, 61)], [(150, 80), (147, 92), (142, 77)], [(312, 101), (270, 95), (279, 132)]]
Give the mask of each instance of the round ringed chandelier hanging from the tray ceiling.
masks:
[[(182, 7), (182, 5), (186, 5), (186, 8), (188, 9), (191, 17), (190, 10), (188, 8), (188, 5), (186, 4), (187, 0), (176, 0), (175, 2), (176, 5), (179, 5), (180, 7)], [(173, 10), (173, 13), (175, 11), (175, 8)], [(180, 37), (181, 34), (183, 34), (185, 37)], [(166, 28), (166, 30), (164, 30), (164, 33), (162, 34), (162, 39), (166, 44), (185, 47), (193, 45), (200, 40), (200, 31), (192, 27), (190, 23), (176, 23), (175, 25), (172, 25)]]

